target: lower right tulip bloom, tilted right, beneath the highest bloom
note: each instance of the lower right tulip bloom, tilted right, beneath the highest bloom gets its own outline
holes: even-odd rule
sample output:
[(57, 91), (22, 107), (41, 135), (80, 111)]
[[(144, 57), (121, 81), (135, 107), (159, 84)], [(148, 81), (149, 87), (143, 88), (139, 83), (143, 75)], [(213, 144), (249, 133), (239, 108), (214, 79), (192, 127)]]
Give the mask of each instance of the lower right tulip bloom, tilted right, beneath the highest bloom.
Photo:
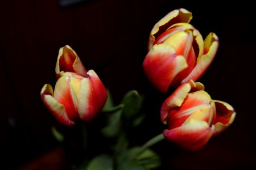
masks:
[(163, 135), (185, 150), (199, 150), (210, 137), (228, 128), (235, 116), (231, 105), (212, 100), (203, 84), (190, 80), (181, 84), (162, 105), (161, 120), (168, 125)]

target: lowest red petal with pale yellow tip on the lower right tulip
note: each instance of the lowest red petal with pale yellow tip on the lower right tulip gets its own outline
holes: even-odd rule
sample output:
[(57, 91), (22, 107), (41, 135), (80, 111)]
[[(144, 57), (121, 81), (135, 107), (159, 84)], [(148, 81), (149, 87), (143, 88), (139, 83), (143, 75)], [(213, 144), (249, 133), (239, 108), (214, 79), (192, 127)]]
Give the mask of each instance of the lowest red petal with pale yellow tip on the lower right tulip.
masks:
[(185, 150), (195, 151), (202, 148), (212, 136), (212, 128), (205, 121), (189, 120), (182, 126), (163, 131), (164, 137)]

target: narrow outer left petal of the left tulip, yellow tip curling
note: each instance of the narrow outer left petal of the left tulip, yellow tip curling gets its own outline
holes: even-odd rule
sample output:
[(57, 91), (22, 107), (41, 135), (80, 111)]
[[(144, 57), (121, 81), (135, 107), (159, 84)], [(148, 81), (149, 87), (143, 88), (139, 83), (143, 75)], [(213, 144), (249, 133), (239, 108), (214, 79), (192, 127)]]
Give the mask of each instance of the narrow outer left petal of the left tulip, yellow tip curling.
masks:
[(67, 126), (75, 124), (75, 122), (68, 118), (64, 105), (60, 104), (56, 99), (52, 97), (53, 90), (51, 85), (45, 84), (40, 92), (40, 95), (44, 105), (59, 122)]

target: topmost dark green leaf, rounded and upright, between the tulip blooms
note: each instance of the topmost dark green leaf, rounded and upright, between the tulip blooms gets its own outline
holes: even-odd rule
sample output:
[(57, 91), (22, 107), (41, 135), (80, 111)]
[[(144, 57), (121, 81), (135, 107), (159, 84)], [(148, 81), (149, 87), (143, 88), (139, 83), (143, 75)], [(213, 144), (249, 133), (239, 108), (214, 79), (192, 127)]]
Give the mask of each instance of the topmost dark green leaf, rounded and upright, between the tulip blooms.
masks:
[(125, 105), (123, 108), (123, 117), (128, 120), (134, 117), (141, 110), (142, 101), (143, 97), (136, 90), (127, 92), (121, 102)]

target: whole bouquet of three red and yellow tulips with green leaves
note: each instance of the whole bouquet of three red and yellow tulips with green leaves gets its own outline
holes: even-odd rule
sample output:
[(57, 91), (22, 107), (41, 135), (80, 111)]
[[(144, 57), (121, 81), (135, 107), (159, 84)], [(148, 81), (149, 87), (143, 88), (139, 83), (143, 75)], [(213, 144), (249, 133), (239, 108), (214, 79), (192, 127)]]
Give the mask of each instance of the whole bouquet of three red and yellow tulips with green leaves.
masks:
[[(55, 68), (57, 82), (54, 90), (49, 84), (43, 86), (43, 103), (65, 126), (82, 122), (86, 129), (94, 117), (104, 115), (98, 135), (113, 143), (103, 142), (108, 149), (94, 156), (86, 154), (89, 146), (82, 148), (84, 158), (73, 165), (74, 169), (158, 168), (160, 155), (150, 149), (155, 143), (166, 139), (184, 150), (196, 151), (232, 124), (236, 116), (233, 107), (213, 100), (204, 91), (204, 85), (196, 82), (216, 56), (218, 37), (209, 33), (203, 40), (200, 32), (189, 24), (191, 19), (191, 12), (179, 8), (160, 19), (150, 33), (142, 67), (159, 93), (170, 96), (162, 101), (160, 114), (155, 113), (166, 129), (142, 146), (130, 146), (126, 132), (129, 127), (143, 124), (143, 95), (131, 90), (119, 105), (114, 105), (110, 91), (98, 75), (85, 69), (70, 46), (60, 48)], [(60, 142), (65, 141), (57, 129), (52, 132)], [(87, 137), (85, 133), (84, 139)]]

